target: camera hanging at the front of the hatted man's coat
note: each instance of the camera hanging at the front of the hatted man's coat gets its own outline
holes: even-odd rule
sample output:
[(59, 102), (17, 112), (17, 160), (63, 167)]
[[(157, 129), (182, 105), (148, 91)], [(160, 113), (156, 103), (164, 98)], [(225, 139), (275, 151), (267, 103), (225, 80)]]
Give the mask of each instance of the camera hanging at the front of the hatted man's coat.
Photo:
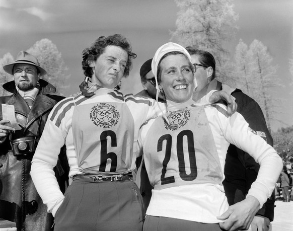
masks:
[(28, 156), (35, 152), (38, 145), (38, 139), (35, 136), (26, 136), (14, 139), (10, 142), (13, 156)]

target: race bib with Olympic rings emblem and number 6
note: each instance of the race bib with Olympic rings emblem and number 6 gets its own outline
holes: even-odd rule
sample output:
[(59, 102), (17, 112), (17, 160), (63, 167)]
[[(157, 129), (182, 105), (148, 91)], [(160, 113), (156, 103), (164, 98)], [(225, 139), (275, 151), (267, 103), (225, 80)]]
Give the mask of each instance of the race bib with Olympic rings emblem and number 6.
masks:
[(132, 115), (123, 103), (93, 103), (75, 107), (72, 131), (78, 165), (83, 172), (122, 173), (129, 169), (132, 157), (126, 155), (132, 153), (134, 132), (133, 126), (129, 126), (129, 118)]

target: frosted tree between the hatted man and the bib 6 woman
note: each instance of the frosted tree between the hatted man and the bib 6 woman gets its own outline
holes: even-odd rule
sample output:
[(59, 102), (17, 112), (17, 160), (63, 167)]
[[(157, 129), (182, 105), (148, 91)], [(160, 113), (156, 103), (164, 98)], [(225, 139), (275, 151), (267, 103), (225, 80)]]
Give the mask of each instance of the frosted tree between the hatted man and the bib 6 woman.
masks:
[(40, 65), (47, 71), (47, 74), (42, 76), (42, 79), (54, 85), (57, 89), (57, 94), (63, 95), (63, 90), (67, 87), (64, 83), (69, 78), (69, 75), (66, 75), (67, 67), (56, 45), (49, 39), (41, 39), (27, 52), (35, 55)]

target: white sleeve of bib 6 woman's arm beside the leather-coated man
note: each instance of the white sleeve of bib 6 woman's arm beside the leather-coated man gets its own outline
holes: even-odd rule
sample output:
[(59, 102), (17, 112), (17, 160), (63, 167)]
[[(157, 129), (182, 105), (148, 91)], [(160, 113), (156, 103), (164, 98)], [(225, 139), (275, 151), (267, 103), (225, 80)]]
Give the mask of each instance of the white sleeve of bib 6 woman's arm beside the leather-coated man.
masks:
[(66, 138), (65, 119), (62, 120), (60, 126), (56, 126), (55, 121), (50, 119), (54, 117), (54, 111), (54, 109), (51, 111), (44, 127), (30, 172), (43, 203), (47, 205), (47, 211), (51, 212), (53, 216), (64, 199), (53, 167), (57, 164), (60, 148), (64, 145)]

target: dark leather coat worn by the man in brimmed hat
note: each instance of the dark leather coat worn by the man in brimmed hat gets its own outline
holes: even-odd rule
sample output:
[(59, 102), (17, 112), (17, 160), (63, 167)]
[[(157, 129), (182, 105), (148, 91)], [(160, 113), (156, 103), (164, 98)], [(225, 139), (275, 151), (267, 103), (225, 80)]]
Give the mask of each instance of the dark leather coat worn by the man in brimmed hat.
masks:
[[(13, 95), (0, 97), (0, 105), (14, 105), (17, 123), (22, 127), (0, 144), (0, 217), (16, 222), (19, 231), (51, 230), (53, 224), (53, 217), (47, 213), (47, 207), (42, 203), (30, 177), (33, 153), (15, 157), (10, 144), (11, 140), (19, 137), (40, 138), (50, 111), (64, 98), (50, 95), (56, 89), (48, 82), (40, 80), (39, 83), (41, 89), (31, 109), (17, 92), (14, 81), (3, 85)], [(0, 119), (3, 119), (2, 107)], [(55, 173), (60, 180), (64, 172), (59, 164), (57, 166), (59, 171)]]

